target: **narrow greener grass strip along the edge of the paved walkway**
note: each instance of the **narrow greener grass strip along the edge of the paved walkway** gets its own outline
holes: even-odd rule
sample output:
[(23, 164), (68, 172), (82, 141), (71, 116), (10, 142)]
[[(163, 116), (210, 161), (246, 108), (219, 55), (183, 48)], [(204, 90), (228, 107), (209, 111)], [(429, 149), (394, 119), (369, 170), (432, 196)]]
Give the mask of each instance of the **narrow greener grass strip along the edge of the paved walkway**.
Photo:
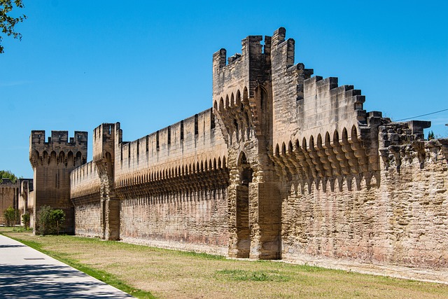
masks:
[[(4, 235), (3, 232), (0, 232), (1, 235)], [(7, 236), (10, 237), (10, 236)], [(121, 291), (124, 291), (130, 295), (133, 295), (136, 298), (141, 299), (155, 299), (154, 295), (151, 294), (151, 292), (143, 291), (139, 288), (133, 288), (132, 286), (125, 284), (125, 282), (118, 279), (115, 275), (110, 274), (106, 271), (97, 270), (92, 267), (87, 267), (86, 265), (83, 265), (78, 260), (75, 260), (73, 258), (69, 258), (64, 253), (57, 253), (55, 251), (49, 251), (42, 248), (42, 244), (34, 241), (27, 241), (23, 239), (17, 239), (15, 237), (10, 237), (11, 239), (15, 239), (16, 241), (25, 244), (33, 249), (36, 249), (37, 251), (41, 251), (41, 253), (45, 253), (47, 256), (51, 256), (52, 258), (55, 258), (56, 260), (61, 261), (62, 263), (65, 263), (76, 270), (79, 270), (81, 272), (84, 272), (87, 275), (90, 275), (91, 277), (94, 277), (100, 281), (103, 281), (106, 284), (109, 284), (111, 286), (114, 286), (118, 288)]]

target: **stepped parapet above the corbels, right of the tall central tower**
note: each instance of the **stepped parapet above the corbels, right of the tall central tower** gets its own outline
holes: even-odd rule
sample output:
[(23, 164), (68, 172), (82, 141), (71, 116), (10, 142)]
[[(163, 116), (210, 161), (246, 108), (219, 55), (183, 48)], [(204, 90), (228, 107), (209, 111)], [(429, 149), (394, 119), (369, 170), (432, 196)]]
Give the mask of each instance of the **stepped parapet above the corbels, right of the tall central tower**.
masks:
[[(309, 139), (325, 132), (367, 124), (365, 97), (353, 85), (338, 85), (338, 78), (313, 76), (304, 64), (294, 65), (295, 42), (278, 29), (272, 39), (273, 146), (293, 136)], [(275, 41), (275, 42), (274, 42)], [(350, 130), (350, 129), (347, 129)]]

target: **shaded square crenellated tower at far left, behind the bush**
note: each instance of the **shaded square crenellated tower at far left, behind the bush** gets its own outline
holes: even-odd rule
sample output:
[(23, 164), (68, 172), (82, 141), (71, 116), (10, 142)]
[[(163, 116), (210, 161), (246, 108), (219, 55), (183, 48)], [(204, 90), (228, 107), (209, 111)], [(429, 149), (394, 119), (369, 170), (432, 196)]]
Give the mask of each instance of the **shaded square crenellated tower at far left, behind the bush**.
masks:
[[(31, 131), (29, 162), (34, 170), (34, 211), (43, 205), (65, 212), (64, 232), (74, 232), (73, 204), (70, 201), (70, 172), (87, 161), (87, 132), (52, 131), (45, 142), (45, 131)], [(37, 223), (36, 223), (37, 225)], [(34, 232), (36, 232), (34, 225)]]

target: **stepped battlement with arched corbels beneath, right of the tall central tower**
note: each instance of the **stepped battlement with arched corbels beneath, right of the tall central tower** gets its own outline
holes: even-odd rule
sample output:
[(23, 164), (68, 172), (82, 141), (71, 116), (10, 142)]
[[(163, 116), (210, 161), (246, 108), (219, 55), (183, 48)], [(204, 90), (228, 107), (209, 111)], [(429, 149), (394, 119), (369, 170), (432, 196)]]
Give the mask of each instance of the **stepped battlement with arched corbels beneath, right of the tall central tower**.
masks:
[(275, 134), (269, 155), (276, 172), (310, 192), (311, 186), (325, 190), (328, 182), (331, 191), (342, 190), (353, 178), (356, 188), (363, 179), (364, 186), (374, 186), (381, 113), (366, 113), (365, 96), (353, 85), (339, 86), (337, 77), (311, 77), (312, 69), (294, 65), (295, 42), (285, 34), (284, 28), (276, 31), (271, 54)]

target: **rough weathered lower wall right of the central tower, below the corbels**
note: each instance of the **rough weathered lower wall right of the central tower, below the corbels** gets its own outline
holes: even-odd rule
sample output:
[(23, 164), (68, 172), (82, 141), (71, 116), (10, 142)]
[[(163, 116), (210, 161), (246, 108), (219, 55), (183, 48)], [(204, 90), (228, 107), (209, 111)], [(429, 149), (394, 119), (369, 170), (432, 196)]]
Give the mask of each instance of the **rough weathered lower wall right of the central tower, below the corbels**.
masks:
[(447, 281), (448, 141), (412, 141), (409, 127), (379, 127), (379, 176), (313, 186), (285, 180), (282, 258), (370, 272), (400, 265), (409, 267), (402, 276)]

